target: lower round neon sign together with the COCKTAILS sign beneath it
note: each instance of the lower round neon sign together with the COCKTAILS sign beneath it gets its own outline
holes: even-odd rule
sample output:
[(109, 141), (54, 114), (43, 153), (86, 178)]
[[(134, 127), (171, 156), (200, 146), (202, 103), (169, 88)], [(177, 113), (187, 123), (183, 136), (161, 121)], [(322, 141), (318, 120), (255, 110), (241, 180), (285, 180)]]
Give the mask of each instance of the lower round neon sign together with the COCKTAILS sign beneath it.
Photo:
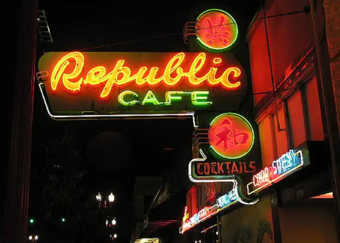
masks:
[(210, 151), (222, 159), (207, 159), (203, 151), (199, 150), (202, 158), (194, 158), (189, 163), (191, 181), (225, 179), (226, 182), (233, 181), (238, 175), (256, 172), (256, 161), (239, 161), (254, 143), (253, 129), (243, 116), (232, 112), (218, 115), (210, 123), (208, 139)]

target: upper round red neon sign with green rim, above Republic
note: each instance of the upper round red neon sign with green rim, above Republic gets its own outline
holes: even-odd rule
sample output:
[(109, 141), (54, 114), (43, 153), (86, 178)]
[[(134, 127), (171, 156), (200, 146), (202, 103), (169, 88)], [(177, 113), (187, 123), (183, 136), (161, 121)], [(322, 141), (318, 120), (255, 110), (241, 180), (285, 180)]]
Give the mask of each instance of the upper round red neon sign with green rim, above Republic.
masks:
[(231, 47), (238, 34), (234, 18), (220, 9), (209, 9), (201, 13), (197, 17), (195, 29), (198, 42), (213, 50)]

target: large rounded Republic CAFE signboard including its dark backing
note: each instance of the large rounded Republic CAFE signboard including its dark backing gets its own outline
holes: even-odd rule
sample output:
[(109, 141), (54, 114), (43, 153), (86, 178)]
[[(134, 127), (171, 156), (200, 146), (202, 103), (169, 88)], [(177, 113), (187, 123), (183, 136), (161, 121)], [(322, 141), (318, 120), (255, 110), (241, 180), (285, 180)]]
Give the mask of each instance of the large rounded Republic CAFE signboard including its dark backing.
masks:
[(247, 86), (229, 53), (52, 52), (38, 66), (40, 92), (53, 118), (97, 112), (91, 103), (111, 116), (183, 115), (215, 109), (224, 97), (245, 95)]

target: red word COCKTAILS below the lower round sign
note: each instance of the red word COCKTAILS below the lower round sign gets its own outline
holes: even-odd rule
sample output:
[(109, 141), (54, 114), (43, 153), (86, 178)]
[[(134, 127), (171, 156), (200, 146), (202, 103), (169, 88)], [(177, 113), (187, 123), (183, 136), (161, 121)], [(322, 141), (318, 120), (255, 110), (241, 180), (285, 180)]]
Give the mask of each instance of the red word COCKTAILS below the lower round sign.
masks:
[(200, 162), (193, 163), (196, 176), (230, 176), (256, 172), (256, 162)]

